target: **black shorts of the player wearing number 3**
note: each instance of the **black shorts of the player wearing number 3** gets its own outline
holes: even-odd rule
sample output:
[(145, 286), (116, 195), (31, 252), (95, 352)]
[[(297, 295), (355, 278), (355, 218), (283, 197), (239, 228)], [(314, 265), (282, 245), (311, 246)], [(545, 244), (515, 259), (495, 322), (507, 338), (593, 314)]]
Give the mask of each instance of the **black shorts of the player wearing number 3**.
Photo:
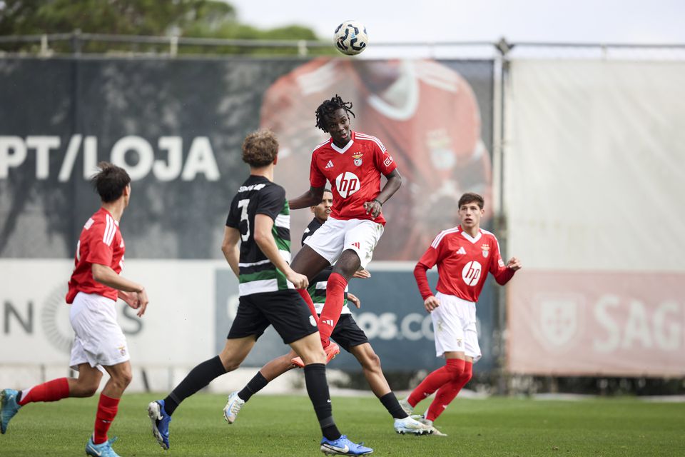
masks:
[(288, 289), (240, 297), (238, 312), (226, 338), (254, 335), (257, 339), (270, 325), (273, 325), (285, 344), (318, 331), (307, 303), (297, 291)]

